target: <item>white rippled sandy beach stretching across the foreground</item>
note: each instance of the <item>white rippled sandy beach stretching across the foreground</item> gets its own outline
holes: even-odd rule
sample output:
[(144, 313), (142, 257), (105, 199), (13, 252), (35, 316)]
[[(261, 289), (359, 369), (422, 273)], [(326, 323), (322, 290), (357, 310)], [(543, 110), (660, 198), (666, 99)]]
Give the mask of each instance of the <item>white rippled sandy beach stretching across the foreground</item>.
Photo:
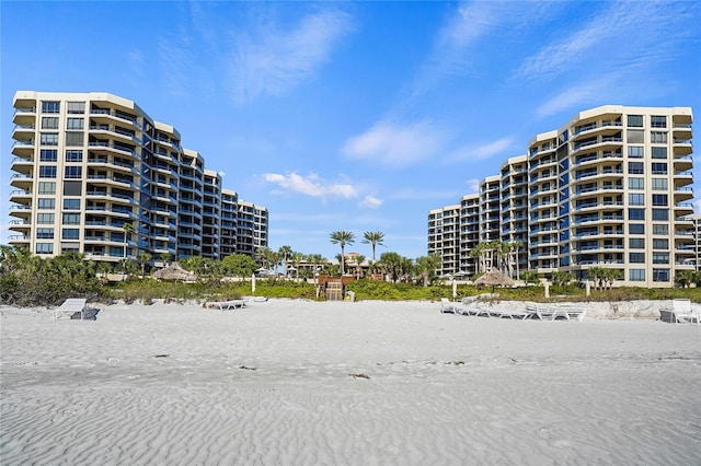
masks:
[(439, 307), (4, 307), (0, 464), (701, 464), (701, 327)]

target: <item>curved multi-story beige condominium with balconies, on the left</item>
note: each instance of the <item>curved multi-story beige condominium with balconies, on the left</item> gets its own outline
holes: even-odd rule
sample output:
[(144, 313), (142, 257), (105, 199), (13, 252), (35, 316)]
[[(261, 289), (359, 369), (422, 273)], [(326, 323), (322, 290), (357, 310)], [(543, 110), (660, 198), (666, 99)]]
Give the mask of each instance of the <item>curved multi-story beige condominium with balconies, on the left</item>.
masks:
[[(225, 196), (221, 176), (181, 145), (177, 130), (134, 102), (19, 91), (14, 108), (11, 245), (105, 261), (252, 254), (237, 248), (235, 194)], [(267, 211), (256, 210), (265, 212), (257, 245), (266, 245)]]

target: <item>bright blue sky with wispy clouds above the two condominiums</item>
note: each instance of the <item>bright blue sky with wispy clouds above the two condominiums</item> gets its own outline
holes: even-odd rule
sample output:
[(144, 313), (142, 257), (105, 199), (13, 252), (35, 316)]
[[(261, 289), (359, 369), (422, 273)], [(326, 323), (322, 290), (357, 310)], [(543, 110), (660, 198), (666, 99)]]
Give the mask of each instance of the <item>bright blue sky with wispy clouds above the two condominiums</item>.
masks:
[(370, 256), (363, 232), (380, 231), (378, 255), (426, 255), (430, 209), (474, 193), (582, 109), (691, 106), (701, 118), (692, 1), (0, 9), (3, 244), (16, 90), (135, 101), (173, 125), (225, 187), (268, 208), (272, 248), (329, 258), (337, 230), (356, 235), (346, 252)]

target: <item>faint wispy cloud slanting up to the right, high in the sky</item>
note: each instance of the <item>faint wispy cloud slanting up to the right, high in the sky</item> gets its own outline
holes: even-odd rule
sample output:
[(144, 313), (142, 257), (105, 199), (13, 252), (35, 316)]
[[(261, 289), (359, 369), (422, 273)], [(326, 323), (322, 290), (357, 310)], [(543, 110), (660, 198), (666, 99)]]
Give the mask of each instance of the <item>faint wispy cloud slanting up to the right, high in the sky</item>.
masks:
[(348, 13), (331, 8), (289, 30), (266, 23), (241, 33), (228, 66), (230, 92), (238, 103), (284, 93), (325, 62), (353, 27)]

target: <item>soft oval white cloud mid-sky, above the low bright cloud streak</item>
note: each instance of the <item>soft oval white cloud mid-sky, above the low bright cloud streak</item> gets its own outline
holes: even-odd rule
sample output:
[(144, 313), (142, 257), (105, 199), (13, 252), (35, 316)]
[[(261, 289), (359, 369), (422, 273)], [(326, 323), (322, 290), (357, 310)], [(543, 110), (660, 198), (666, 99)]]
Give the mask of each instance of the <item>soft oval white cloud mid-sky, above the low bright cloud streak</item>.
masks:
[(366, 160), (389, 168), (402, 168), (435, 155), (447, 132), (429, 121), (394, 124), (379, 121), (343, 145), (349, 159)]

